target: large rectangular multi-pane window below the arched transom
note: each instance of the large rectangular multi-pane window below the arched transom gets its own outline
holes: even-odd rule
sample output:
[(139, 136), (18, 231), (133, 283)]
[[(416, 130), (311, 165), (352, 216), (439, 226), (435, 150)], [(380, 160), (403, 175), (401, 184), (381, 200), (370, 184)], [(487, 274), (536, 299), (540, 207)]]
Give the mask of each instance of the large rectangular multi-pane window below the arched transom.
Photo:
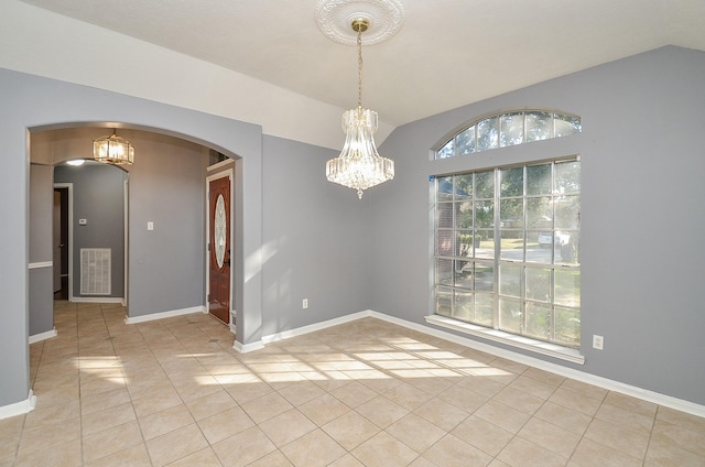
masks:
[[(512, 134), (506, 141), (519, 138)], [(579, 158), (437, 176), (434, 183), (435, 314), (579, 347)]]

